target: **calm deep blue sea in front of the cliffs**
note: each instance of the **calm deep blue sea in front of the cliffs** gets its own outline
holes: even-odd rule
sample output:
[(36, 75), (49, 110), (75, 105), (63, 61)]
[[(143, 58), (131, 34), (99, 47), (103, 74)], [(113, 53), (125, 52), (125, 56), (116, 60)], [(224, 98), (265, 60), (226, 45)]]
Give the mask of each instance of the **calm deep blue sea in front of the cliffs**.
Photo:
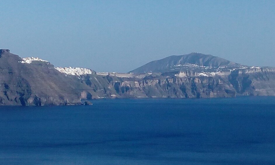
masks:
[(275, 164), (275, 97), (0, 107), (0, 164)]

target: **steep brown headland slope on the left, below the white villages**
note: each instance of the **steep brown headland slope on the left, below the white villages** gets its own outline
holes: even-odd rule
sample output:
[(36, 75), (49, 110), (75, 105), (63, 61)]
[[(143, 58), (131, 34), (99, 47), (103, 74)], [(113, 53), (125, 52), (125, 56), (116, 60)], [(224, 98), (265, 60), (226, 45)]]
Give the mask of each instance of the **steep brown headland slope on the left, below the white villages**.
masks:
[(0, 51), (0, 105), (66, 105), (80, 103), (88, 88), (45, 62), (21, 63), (18, 55)]

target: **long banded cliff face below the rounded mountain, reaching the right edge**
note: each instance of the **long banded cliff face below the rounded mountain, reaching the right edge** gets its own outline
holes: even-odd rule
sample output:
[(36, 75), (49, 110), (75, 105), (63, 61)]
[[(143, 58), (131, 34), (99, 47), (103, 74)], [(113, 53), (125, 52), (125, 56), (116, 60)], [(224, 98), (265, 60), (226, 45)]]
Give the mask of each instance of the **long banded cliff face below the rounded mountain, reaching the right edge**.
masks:
[(223, 76), (118, 78), (81, 76), (93, 98), (215, 98), (275, 95), (274, 69), (239, 69)]

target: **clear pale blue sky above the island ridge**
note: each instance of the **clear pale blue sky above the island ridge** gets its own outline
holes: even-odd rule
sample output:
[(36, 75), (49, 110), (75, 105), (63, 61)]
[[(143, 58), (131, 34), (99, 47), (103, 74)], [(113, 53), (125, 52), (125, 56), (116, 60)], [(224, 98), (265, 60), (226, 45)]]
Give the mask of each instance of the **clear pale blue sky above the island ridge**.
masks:
[(274, 0), (0, 2), (0, 48), (55, 66), (128, 72), (191, 52), (275, 66)]

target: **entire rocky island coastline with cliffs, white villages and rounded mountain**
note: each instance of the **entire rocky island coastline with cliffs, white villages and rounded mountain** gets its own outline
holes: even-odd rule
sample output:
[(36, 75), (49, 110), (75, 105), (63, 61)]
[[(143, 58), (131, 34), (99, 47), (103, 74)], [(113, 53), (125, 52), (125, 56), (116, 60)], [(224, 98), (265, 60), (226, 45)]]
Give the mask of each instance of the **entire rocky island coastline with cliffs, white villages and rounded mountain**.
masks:
[(101, 73), (54, 67), (46, 60), (20, 58), (0, 49), (0, 105), (79, 105), (98, 98), (275, 96), (272, 67), (249, 67), (199, 53), (156, 63), (160, 66), (149, 69), (155, 72)]

